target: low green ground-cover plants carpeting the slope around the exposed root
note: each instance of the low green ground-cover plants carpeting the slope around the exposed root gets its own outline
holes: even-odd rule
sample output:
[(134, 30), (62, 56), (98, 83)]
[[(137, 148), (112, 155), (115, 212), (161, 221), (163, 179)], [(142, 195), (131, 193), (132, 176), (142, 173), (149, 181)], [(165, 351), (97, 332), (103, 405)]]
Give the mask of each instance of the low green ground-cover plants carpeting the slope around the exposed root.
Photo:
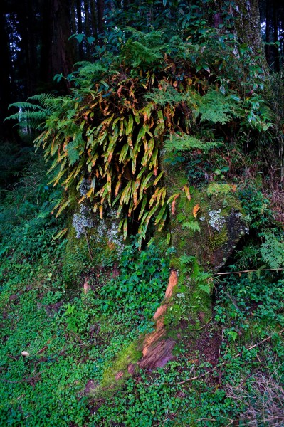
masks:
[(48, 214), (57, 194), (40, 170), (1, 204), (1, 425), (283, 425), (280, 271), (261, 270), (263, 260), (256, 273), (232, 265), (195, 347), (189, 330), (166, 367), (130, 375), (167, 287), (168, 256), (154, 243), (138, 251), (133, 238), (102, 269), (86, 251), (80, 288), (70, 292), (66, 241), (53, 240), (63, 223)]

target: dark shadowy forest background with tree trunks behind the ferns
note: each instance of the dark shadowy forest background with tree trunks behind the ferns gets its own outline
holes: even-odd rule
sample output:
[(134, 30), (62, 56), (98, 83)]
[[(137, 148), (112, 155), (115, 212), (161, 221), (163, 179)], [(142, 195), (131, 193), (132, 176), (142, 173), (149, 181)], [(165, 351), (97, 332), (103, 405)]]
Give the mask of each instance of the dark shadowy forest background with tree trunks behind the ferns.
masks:
[[(259, 1), (265, 53), (274, 71), (280, 70), (284, 51), (284, 4), (280, 3)], [(143, 14), (146, 25), (148, 20), (154, 26), (160, 24), (165, 11), (162, 2), (154, 0), (4, 0), (0, 12), (0, 135), (4, 136), (11, 125), (3, 125), (11, 102), (50, 90), (68, 90), (62, 82), (56, 84), (54, 75), (67, 76), (74, 63), (90, 60), (95, 46), (104, 45), (108, 28), (131, 26), (138, 18), (142, 23)], [(73, 34), (84, 34), (88, 41), (78, 43), (70, 39)]]

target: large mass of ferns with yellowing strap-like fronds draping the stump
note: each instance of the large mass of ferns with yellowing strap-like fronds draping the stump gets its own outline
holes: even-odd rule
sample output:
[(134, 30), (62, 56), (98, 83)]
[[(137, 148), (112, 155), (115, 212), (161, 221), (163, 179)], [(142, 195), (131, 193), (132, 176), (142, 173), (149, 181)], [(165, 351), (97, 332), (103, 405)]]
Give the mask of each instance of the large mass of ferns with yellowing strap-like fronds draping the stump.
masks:
[[(241, 72), (248, 60), (243, 50), (236, 78), (224, 65), (235, 62), (238, 43), (206, 26), (206, 20), (189, 21), (175, 36), (167, 28), (117, 32), (122, 39), (115, 53), (102, 50), (100, 59), (78, 63), (78, 71), (68, 76), (70, 95), (36, 95), (14, 104), (19, 113), (10, 118), (30, 120), (30, 125), (38, 120), (43, 129), (36, 146), (52, 161), (51, 183), (65, 189), (58, 214), (71, 204), (70, 188), (78, 189), (86, 179), (88, 191), (79, 203), (89, 199), (101, 218), (107, 205), (115, 208), (125, 237), (127, 218), (135, 216), (145, 237), (152, 218), (159, 229), (167, 219), (162, 147), (207, 152), (224, 142), (220, 135), (229, 134), (231, 125), (264, 132), (270, 117), (261, 83), (251, 100), (243, 96), (242, 87), (252, 78)], [(253, 79), (261, 82), (258, 72), (256, 77), (254, 69)], [(184, 154), (177, 157), (184, 160)]]

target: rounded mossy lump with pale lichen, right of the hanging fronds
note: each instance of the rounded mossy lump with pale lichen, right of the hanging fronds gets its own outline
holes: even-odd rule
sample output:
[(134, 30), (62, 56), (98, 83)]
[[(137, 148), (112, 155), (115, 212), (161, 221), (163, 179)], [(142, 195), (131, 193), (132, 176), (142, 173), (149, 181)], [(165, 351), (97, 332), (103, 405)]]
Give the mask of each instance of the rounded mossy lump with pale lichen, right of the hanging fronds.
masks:
[(194, 256), (204, 270), (219, 270), (248, 231), (236, 186), (209, 184), (201, 189), (191, 186), (188, 196), (183, 191), (188, 185), (184, 173), (177, 168), (171, 172), (169, 167), (165, 172), (169, 196), (179, 194), (170, 218), (176, 258), (184, 254)]

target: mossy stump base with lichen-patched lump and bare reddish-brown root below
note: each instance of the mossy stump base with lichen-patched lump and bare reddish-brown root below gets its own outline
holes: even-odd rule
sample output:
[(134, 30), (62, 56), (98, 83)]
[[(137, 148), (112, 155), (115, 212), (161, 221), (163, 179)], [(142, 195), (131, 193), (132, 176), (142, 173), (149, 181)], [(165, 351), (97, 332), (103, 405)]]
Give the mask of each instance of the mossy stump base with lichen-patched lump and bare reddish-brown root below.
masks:
[(184, 174), (167, 167), (164, 172), (169, 195), (179, 194), (170, 218), (175, 253), (164, 301), (154, 315), (155, 330), (144, 339), (139, 365), (148, 369), (172, 359), (182, 337), (196, 348), (199, 331), (212, 317), (211, 273), (221, 268), (246, 232), (236, 186), (211, 184), (201, 190), (191, 188), (186, 195)]

